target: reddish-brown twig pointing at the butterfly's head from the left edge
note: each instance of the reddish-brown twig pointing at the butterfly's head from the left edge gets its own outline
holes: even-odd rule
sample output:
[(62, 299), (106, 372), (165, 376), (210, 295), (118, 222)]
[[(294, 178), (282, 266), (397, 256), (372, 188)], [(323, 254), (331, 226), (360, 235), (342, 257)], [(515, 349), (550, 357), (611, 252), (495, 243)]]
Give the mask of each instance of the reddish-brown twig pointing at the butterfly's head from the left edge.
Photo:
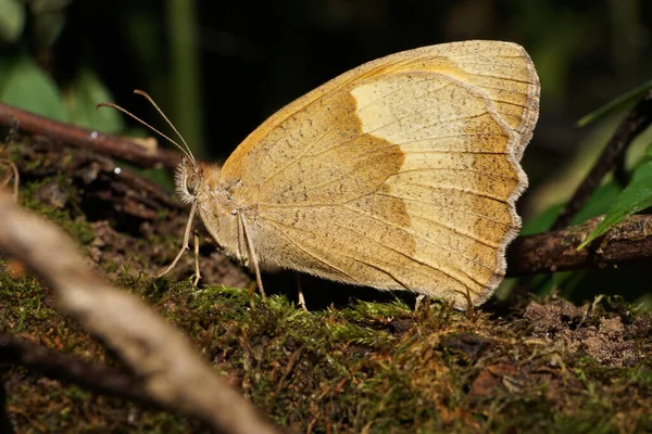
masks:
[(102, 155), (130, 162), (141, 167), (163, 165), (174, 168), (181, 161), (180, 155), (173, 151), (150, 150), (135, 140), (75, 127), (7, 104), (0, 104), (0, 125), (17, 127), (20, 130), (54, 139), (66, 145), (91, 149)]

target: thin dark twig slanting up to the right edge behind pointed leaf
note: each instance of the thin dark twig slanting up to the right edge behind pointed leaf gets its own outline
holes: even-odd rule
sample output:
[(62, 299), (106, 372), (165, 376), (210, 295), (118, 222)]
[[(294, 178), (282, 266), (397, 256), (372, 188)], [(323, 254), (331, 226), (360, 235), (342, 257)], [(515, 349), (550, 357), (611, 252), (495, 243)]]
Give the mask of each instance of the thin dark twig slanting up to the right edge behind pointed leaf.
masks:
[(600, 157), (591, 171), (579, 184), (573, 197), (565, 205), (562, 213), (552, 225), (552, 230), (565, 228), (582, 208), (591, 194), (595, 191), (602, 178), (614, 167), (618, 157), (625, 152), (634, 139), (652, 124), (652, 91), (643, 95), (631, 108), (629, 114), (620, 122), (616, 132), (602, 150)]

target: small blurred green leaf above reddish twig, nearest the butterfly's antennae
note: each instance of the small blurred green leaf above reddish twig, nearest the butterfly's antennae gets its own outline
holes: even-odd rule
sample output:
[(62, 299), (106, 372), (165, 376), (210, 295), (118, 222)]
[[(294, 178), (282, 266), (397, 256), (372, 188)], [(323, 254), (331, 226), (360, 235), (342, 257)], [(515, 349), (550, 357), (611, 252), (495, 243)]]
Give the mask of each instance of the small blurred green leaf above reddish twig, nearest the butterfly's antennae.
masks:
[(71, 114), (73, 124), (115, 133), (125, 128), (120, 112), (96, 108), (97, 103), (112, 100), (111, 93), (98, 76), (92, 71), (85, 68), (65, 92), (63, 102)]

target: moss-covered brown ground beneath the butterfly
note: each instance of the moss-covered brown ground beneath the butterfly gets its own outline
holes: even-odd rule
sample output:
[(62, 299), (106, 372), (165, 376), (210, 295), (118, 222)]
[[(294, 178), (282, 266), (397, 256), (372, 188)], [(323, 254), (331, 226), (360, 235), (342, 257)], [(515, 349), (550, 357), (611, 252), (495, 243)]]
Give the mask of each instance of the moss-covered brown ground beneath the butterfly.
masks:
[[(54, 181), (66, 195), (60, 208), (39, 200)], [(178, 238), (114, 230), (97, 243), (106, 233), (86, 220), (74, 189), (63, 177), (28, 181), (21, 199), (100, 257), (110, 279), (183, 329), (216, 370), (290, 431), (652, 431), (652, 319), (618, 299), (584, 307), (554, 297), (525, 301), (499, 316), (496, 307), (460, 312), (426, 302), (415, 310), (399, 299), (351, 298), (306, 312), (285, 294), (262, 299), (247, 289), (196, 290), (189, 279), (150, 278), (139, 265), (160, 267), (176, 253)], [(164, 253), (151, 248), (153, 239)], [(118, 256), (120, 243), (134, 247)], [(304, 292), (310, 296), (311, 288)], [(0, 331), (120, 366), (9, 259), (0, 261)], [(18, 432), (205, 430), (23, 368), (7, 368), (2, 379)]]

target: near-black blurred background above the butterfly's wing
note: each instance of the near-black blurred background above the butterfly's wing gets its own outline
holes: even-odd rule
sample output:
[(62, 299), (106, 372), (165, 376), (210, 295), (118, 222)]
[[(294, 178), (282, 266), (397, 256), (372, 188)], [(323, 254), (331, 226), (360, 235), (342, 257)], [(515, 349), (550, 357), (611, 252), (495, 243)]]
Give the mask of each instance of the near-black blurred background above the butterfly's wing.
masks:
[(134, 111), (142, 113), (134, 88), (150, 92), (173, 120), (179, 111), (196, 111), (211, 156), (228, 156), (265, 117), (338, 74), (426, 44), (474, 38), (523, 44), (542, 87), (532, 148), (557, 151), (576, 142), (559, 137), (575, 133), (575, 120), (652, 71), (649, 1), (197, 1), (197, 46), (186, 50), (199, 56), (201, 101), (180, 107), (171, 92), (178, 85), (170, 47), (178, 41), (168, 3), (71, 2), (52, 72), (65, 86), (90, 64)]

